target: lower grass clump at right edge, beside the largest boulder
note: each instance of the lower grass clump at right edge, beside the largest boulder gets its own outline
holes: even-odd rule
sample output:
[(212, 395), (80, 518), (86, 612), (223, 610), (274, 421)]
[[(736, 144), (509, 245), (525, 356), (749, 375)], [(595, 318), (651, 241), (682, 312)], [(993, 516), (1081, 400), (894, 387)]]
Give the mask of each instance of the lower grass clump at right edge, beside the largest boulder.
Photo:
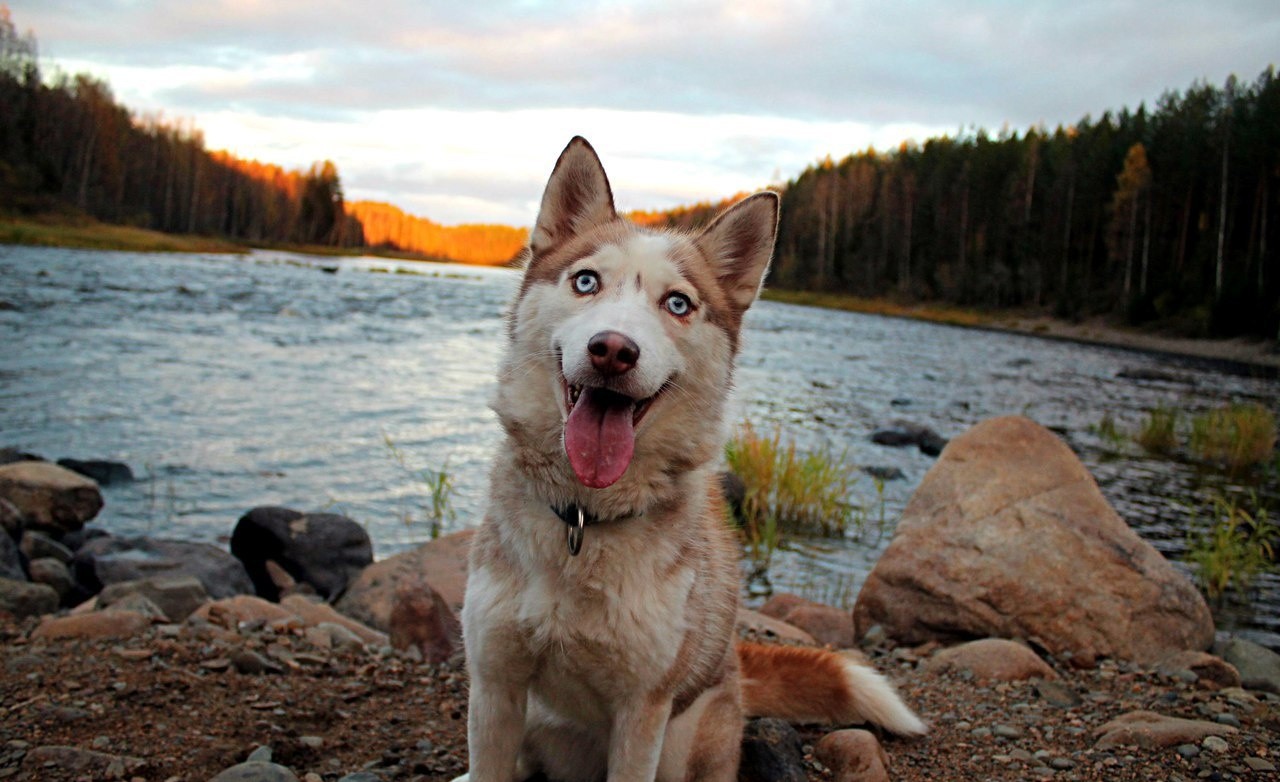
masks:
[(1275, 568), (1280, 527), (1257, 498), (1252, 504), (1251, 512), (1220, 494), (1213, 498), (1207, 523), (1192, 518), (1185, 559), (1194, 566), (1201, 589), (1211, 599), (1221, 598), (1229, 589), (1248, 591), (1257, 576)]

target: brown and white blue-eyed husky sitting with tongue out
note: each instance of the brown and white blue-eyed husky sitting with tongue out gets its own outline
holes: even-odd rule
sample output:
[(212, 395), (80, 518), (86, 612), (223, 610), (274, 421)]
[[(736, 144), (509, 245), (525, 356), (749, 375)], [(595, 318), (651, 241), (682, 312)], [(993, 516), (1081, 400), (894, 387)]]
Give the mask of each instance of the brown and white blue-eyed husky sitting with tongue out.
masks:
[(696, 235), (644, 229), (586, 141), (556, 163), (462, 610), (471, 781), (736, 779), (746, 715), (924, 732), (864, 664), (735, 644), (717, 456), (777, 223), (762, 192)]

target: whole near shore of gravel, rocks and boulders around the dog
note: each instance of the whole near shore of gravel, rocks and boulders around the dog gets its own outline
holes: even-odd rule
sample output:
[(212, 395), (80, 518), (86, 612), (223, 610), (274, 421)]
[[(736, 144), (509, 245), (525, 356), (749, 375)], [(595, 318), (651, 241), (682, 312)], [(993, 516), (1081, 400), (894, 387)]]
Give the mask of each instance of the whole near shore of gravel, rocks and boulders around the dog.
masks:
[[(360, 525), (287, 508), (247, 512), (230, 550), (116, 539), (77, 465), (14, 456), (0, 779), (465, 770), (467, 532), (376, 563)], [(1051, 433), (997, 419), (955, 438), (855, 605), (776, 595), (739, 622), (867, 657), (931, 732), (754, 721), (741, 778), (1280, 778), (1280, 655), (1215, 637), (1144, 547)]]

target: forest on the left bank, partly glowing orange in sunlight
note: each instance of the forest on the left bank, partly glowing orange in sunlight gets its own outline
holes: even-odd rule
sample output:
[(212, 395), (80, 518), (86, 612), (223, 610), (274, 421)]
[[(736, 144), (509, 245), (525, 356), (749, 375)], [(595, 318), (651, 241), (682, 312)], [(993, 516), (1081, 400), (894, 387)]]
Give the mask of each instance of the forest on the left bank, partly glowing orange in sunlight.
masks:
[(527, 235), (348, 203), (329, 160), (285, 170), (206, 150), (189, 122), (137, 116), (100, 79), (44, 78), (37, 49), (35, 35), (19, 35), (0, 5), (0, 212), (69, 211), (248, 243), (375, 247), (484, 264), (509, 261)]

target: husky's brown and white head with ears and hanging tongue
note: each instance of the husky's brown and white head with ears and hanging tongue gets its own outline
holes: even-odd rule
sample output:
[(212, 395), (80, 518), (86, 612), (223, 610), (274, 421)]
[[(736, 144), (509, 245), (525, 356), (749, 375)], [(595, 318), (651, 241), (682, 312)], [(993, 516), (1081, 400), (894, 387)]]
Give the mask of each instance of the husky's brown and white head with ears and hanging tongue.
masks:
[[(543, 195), (511, 315), (497, 404), (508, 431), (541, 433), (545, 449), (554, 425), (554, 456), (590, 489), (645, 472), (641, 462), (671, 472), (708, 461), (777, 220), (777, 195), (762, 192), (695, 235), (636, 227), (614, 210), (595, 151), (573, 138)], [(540, 398), (516, 398), (517, 383)]]

